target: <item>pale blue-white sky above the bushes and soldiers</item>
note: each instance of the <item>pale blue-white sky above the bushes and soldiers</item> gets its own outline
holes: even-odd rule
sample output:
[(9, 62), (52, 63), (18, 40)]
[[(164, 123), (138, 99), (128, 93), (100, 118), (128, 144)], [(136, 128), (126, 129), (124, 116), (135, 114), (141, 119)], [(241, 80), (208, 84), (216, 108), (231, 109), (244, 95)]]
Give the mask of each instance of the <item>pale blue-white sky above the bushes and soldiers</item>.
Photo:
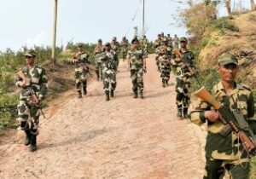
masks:
[[(244, 0), (246, 1), (246, 0)], [(130, 41), (134, 26), (142, 30), (142, 0), (59, 0), (58, 46), (73, 43), (109, 42), (126, 36)], [(186, 7), (171, 0), (145, 0), (146, 35), (154, 40), (160, 32), (186, 36), (184, 27), (172, 18)], [(0, 0), (0, 50), (51, 45), (54, 0)], [(224, 12), (223, 9), (220, 13)], [(223, 13), (224, 14), (224, 13)]]

